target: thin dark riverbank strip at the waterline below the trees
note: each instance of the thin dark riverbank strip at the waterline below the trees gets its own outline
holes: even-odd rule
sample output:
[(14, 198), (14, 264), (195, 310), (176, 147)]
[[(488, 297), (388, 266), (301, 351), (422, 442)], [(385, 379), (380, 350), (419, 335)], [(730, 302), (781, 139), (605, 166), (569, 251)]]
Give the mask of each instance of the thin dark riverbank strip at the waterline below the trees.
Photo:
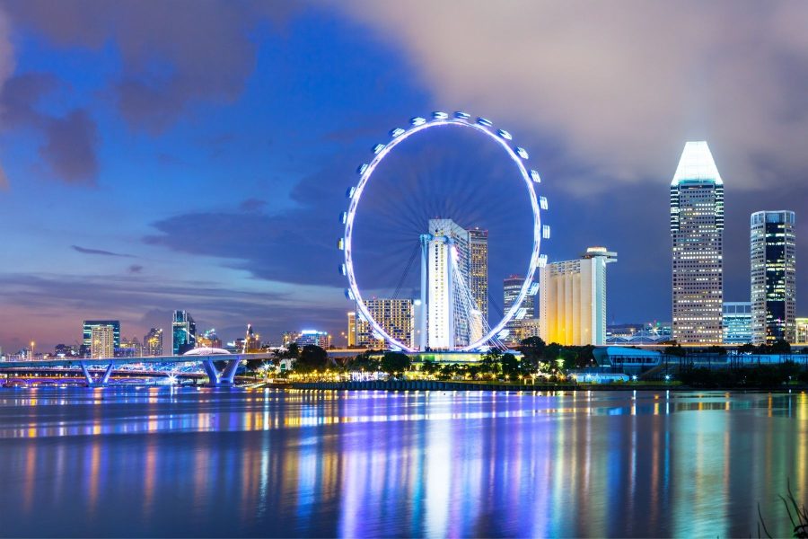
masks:
[(293, 382), (273, 384), (289, 389), (345, 391), (677, 391), (677, 392), (787, 392), (808, 391), (808, 386), (779, 385), (774, 387), (690, 387), (681, 384), (504, 384), (480, 382), (440, 382), (433, 380), (379, 380), (370, 382)]

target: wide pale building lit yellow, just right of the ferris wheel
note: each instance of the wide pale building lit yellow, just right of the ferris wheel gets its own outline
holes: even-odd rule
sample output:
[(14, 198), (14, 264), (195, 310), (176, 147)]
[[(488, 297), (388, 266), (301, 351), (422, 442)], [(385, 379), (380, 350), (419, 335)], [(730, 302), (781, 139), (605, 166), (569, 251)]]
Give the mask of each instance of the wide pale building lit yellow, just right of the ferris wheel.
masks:
[(547, 264), (540, 272), (540, 337), (547, 343), (606, 343), (606, 264), (617, 253), (590, 247), (580, 260)]

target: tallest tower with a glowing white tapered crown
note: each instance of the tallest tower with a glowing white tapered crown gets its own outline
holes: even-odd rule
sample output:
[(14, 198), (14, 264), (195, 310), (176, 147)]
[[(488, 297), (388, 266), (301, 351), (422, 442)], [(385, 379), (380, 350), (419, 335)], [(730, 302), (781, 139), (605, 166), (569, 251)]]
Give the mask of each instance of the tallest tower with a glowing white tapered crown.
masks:
[(706, 142), (688, 142), (671, 182), (673, 339), (724, 340), (724, 181)]

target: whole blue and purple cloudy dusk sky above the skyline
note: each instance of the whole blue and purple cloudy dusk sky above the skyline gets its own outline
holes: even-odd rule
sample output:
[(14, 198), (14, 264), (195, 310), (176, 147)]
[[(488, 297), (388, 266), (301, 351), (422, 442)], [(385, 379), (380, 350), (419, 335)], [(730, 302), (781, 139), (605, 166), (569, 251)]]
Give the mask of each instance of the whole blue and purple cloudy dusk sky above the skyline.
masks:
[[(610, 323), (670, 321), (668, 186), (707, 140), (725, 300), (748, 301), (751, 212), (791, 209), (808, 315), (806, 27), (796, 1), (0, 0), (0, 346), (72, 344), (84, 319), (142, 338), (174, 309), (224, 340), (341, 344), (345, 190), (432, 110), (528, 149), (550, 261), (619, 253)], [(496, 296), (529, 256), (518, 178), (479, 137), (414, 139), (363, 199), (360, 285), (406, 292), (417, 224), (451, 216), (489, 229)]]

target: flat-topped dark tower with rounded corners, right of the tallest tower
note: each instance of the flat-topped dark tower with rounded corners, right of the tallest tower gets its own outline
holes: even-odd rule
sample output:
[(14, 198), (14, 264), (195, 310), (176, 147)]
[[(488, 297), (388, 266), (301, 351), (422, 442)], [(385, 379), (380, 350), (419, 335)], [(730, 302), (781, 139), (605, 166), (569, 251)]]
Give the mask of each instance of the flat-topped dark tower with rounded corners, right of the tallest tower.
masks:
[(795, 342), (796, 239), (793, 211), (751, 215), (753, 342)]

